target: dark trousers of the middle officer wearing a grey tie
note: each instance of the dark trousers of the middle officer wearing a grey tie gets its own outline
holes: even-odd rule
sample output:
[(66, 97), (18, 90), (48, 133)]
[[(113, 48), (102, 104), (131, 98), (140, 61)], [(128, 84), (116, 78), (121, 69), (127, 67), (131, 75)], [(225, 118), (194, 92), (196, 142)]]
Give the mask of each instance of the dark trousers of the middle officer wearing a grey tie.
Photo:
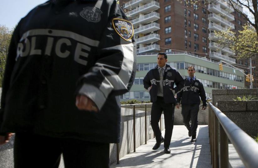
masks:
[(152, 103), (151, 108), (151, 127), (155, 134), (157, 142), (161, 140), (161, 131), (159, 129), (159, 120), (164, 112), (164, 121), (165, 121), (165, 137), (164, 137), (164, 147), (169, 147), (172, 131), (174, 127), (174, 110), (175, 106), (173, 103), (166, 104), (163, 97), (158, 97), (156, 102)]

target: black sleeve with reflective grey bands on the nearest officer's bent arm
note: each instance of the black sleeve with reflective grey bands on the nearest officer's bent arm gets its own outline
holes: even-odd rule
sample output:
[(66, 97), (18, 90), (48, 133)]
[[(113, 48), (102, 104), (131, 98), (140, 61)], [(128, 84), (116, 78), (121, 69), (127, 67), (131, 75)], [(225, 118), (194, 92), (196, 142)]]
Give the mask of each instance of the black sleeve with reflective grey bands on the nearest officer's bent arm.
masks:
[(121, 95), (130, 90), (136, 73), (135, 38), (125, 40), (114, 29), (114, 18), (128, 20), (122, 9), (112, 1), (109, 21), (97, 49), (97, 61), (78, 82), (78, 94), (88, 96), (99, 109), (110, 95)]

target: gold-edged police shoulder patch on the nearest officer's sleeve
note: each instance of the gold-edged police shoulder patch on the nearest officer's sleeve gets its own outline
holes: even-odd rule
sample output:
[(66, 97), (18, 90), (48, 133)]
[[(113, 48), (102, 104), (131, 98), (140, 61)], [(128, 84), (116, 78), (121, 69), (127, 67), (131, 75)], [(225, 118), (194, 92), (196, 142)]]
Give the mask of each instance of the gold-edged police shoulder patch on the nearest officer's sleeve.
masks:
[(112, 24), (116, 33), (126, 41), (129, 41), (133, 37), (133, 26), (127, 20), (114, 18)]

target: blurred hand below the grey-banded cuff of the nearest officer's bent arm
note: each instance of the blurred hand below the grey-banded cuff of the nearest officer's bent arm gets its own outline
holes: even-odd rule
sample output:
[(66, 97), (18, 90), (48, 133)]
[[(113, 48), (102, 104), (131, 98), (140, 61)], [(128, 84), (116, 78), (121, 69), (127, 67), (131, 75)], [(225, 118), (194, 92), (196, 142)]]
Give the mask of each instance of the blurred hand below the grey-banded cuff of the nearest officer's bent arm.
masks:
[(95, 111), (95, 112), (99, 111), (96, 104), (91, 99), (89, 99), (87, 96), (84, 96), (84, 95), (76, 96), (75, 105), (79, 110)]

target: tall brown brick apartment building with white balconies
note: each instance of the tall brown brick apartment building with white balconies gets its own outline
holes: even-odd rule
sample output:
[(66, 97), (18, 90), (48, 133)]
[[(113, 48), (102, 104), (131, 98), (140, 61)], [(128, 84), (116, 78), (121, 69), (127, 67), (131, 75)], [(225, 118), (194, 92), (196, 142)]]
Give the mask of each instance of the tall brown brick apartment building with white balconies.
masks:
[[(134, 26), (138, 54), (187, 51), (214, 62), (246, 62), (236, 60), (232, 50), (218, 48), (216, 43), (214, 31), (227, 28), (237, 31), (246, 23), (227, 0), (200, 1), (198, 4), (189, 4), (188, 0), (120, 0), (119, 4)], [(239, 7), (239, 10), (243, 9)], [(253, 66), (258, 60), (254, 63)], [(257, 69), (254, 73), (256, 78)], [(256, 82), (255, 87), (258, 87)]]

